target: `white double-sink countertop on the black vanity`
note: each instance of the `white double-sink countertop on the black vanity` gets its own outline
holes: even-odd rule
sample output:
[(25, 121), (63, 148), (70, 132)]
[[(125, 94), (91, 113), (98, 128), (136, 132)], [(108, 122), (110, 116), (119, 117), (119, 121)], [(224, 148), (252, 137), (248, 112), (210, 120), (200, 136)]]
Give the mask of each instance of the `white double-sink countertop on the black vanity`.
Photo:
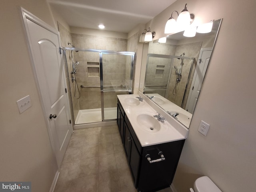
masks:
[[(153, 117), (154, 115), (157, 115), (157, 112), (145, 100), (140, 102), (139, 105), (129, 105), (127, 103), (127, 98), (136, 98), (136, 96), (138, 95), (128, 94), (118, 95), (117, 97), (122, 104), (124, 112), (129, 119), (142, 147), (186, 139), (188, 130), (182, 125), (175, 124), (174, 127), (170, 121), (168, 122), (165, 120), (163, 123), (158, 121), (161, 127), (158, 132), (151, 132), (150, 129), (142, 128), (143, 126), (141, 126), (137, 121), (137, 116), (139, 114), (148, 114)], [(181, 127), (177, 128), (177, 126)]]

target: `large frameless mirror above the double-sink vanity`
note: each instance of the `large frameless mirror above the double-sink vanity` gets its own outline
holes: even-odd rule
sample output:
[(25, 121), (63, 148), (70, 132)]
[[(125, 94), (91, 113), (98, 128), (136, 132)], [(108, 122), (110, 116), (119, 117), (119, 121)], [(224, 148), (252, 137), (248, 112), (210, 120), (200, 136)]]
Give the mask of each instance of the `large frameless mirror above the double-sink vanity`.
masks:
[(143, 46), (139, 91), (189, 128), (222, 19), (211, 32), (178, 32)]

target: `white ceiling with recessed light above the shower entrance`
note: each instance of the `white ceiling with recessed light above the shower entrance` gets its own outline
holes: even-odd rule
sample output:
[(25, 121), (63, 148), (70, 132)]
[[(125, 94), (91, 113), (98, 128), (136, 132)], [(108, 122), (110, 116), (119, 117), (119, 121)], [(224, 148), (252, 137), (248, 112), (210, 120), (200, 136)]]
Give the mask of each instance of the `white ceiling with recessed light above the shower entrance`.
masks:
[[(176, 0), (48, 0), (69, 26), (130, 32), (146, 24)], [(168, 18), (166, 18), (168, 20)]]

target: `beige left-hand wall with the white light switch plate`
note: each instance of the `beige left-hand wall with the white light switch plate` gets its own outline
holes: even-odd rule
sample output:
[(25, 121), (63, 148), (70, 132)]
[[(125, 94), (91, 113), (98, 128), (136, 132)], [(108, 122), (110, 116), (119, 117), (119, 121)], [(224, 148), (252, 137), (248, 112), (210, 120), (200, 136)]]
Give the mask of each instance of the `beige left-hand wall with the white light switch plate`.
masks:
[[(58, 169), (52, 152), (28, 53), (20, 6), (54, 26), (45, 0), (1, 0), (0, 181), (30, 181), (47, 192)], [(19, 113), (16, 101), (30, 95)]]

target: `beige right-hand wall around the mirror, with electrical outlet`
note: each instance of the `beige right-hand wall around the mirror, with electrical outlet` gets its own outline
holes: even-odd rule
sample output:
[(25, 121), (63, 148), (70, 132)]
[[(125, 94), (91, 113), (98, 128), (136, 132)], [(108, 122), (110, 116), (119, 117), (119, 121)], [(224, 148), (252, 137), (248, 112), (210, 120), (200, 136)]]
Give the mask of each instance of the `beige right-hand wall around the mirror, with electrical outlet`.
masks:
[[(172, 11), (180, 12), (185, 3), (195, 23), (223, 22), (173, 185), (186, 192), (207, 175), (223, 192), (255, 191), (256, 1), (178, 0), (147, 24), (156, 38), (164, 36)], [(201, 120), (210, 124), (206, 137), (197, 131)]]

